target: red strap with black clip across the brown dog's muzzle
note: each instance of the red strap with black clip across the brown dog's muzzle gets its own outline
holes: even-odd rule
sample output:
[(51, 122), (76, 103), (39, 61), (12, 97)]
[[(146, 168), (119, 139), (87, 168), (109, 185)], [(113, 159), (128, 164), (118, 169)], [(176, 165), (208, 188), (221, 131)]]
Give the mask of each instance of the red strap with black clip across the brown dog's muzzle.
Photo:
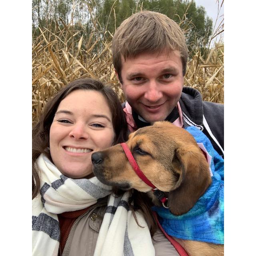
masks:
[(153, 194), (163, 203), (163, 206), (165, 208), (168, 208), (164, 205), (164, 203), (168, 200), (165, 196), (164, 196), (164, 192), (158, 190), (158, 188), (156, 188), (156, 186), (154, 186), (150, 180), (148, 180), (148, 178), (144, 175), (144, 173), (142, 172), (142, 170), (140, 170), (140, 167), (138, 166), (138, 164), (136, 163), (132, 152), (130, 151), (129, 147), (127, 146), (127, 144), (125, 142), (120, 143), (120, 145), (122, 146), (124, 153), (126, 154), (128, 161), (130, 162), (132, 169), (134, 170), (134, 172), (140, 177), (141, 180), (143, 180), (148, 186), (150, 186), (152, 188)]

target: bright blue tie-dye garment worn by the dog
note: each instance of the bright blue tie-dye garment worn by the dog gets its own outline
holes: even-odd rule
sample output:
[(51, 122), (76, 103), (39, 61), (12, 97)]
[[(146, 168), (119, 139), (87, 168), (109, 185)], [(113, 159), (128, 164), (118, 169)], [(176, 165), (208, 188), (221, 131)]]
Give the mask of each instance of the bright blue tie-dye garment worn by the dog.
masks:
[(197, 143), (203, 143), (212, 156), (212, 183), (187, 213), (173, 215), (169, 209), (154, 206), (165, 232), (176, 238), (224, 244), (224, 160), (206, 135), (191, 126), (186, 128)]

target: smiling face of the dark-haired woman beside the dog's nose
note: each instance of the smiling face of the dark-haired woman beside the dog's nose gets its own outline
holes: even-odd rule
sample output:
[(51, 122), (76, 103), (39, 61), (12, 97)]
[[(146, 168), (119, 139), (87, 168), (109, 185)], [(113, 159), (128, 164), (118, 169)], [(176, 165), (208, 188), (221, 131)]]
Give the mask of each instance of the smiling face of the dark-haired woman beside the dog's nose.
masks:
[(92, 153), (111, 146), (114, 136), (104, 96), (94, 90), (75, 90), (60, 102), (50, 127), (52, 161), (70, 178), (90, 178)]

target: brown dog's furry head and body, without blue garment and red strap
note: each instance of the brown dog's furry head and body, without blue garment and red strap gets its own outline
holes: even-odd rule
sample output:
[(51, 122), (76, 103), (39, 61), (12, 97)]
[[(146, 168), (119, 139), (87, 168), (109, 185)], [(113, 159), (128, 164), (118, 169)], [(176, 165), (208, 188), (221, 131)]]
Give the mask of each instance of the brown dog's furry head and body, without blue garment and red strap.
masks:
[[(170, 122), (155, 122), (138, 129), (129, 135), (126, 145), (146, 181), (134, 171), (121, 144), (92, 154), (95, 176), (122, 190), (147, 192), (152, 202), (160, 206), (163, 201), (152, 190), (157, 188), (167, 195), (163, 205), (174, 216), (190, 211), (212, 183), (209, 164), (194, 137)], [(224, 244), (173, 238), (190, 256), (224, 255)]]

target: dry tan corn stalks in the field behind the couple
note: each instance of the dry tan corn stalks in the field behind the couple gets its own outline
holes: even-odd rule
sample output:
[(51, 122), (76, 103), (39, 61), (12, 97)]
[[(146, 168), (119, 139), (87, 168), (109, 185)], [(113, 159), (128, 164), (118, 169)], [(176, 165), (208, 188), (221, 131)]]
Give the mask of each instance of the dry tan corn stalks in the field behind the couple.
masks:
[[(97, 20), (95, 20), (95, 23)], [(76, 78), (92, 77), (111, 84), (120, 101), (125, 100), (114, 73), (112, 34), (95, 28), (86, 37), (82, 26), (64, 24), (55, 32), (40, 30), (32, 42), (32, 122), (60, 88)], [(188, 60), (184, 86), (199, 90), (204, 100), (224, 103), (224, 44), (215, 43), (202, 54), (198, 49)]]

